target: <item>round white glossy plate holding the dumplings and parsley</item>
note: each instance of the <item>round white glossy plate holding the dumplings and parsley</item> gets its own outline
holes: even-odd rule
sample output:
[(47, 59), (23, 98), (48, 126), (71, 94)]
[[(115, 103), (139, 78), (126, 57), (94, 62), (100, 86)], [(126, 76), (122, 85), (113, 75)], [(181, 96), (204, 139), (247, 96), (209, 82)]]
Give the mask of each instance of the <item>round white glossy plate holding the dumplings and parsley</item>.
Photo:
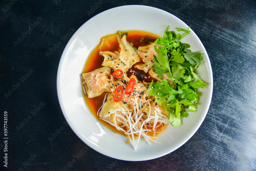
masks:
[[(212, 97), (212, 70), (207, 52), (199, 38), (191, 30), (182, 39), (189, 43), (192, 51), (201, 50), (205, 60), (197, 69), (202, 80), (210, 83), (200, 92), (196, 113), (182, 118), (179, 128), (168, 125), (157, 139), (162, 144), (140, 141), (135, 151), (127, 145), (127, 137), (114, 133), (93, 116), (83, 99), (81, 72), (90, 52), (98, 45), (100, 38), (118, 30), (144, 30), (162, 36), (165, 28), (176, 33), (175, 27), (188, 26), (174, 15), (158, 8), (129, 5), (106, 10), (84, 23), (69, 40), (60, 59), (57, 74), (57, 92), (62, 112), (77, 136), (88, 146), (109, 157), (126, 161), (144, 161), (164, 156), (182, 146), (197, 131), (209, 109)], [(193, 26), (192, 26), (193, 28)]]

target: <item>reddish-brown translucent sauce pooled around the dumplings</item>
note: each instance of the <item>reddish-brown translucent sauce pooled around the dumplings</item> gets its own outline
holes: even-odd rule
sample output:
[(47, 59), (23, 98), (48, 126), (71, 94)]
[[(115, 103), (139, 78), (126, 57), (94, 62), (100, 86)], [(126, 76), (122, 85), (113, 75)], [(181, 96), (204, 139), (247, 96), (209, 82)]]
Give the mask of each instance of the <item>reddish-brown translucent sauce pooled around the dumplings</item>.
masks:
[[(135, 48), (148, 45), (148, 44), (150, 44), (148, 41), (153, 41), (158, 38), (154, 34), (145, 32), (145, 31), (132, 30), (132, 31), (124, 31), (124, 32), (128, 32), (126, 39), (129, 43), (132, 42), (134, 45), (133, 47), (135, 47)], [(144, 40), (144, 42), (143, 41), (140, 42), (141, 38), (145, 39), (146, 42), (145, 42), (145, 40)], [(110, 44), (111, 44), (111, 46), (103, 47), (102, 51), (112, 51), (113, 52), (113, 51), (120, 50), (119, 43), (117, 40), (111, 41)], [(90, 72), (90, 71), (93, 71), (95, 69), (102, 67), (102, 62), (104, 61), (104, 57), (99, 53), (98, 46), (99, 45), (97, 45), (97, 47), (95, 47), (95, 49), (89, 55), (85, 65), (84, 65), (82, 73)], [(143, 63), (143, 61), (141, 60), (138, 63)], [(134, 72), (130, 72), (130, 70), (135, 71), (137, 73), (136, 77), (138, 78), (139, 81), (143, 81), (143, 80), (146, 82), (152, 81), (151, 78), (148, 78), (149, 77), (148, 73), (145, 73), (143, 70), (139, 70), (139, 69), (135, 68), (134, 65), (129, 70), (127, 70), (126, 74), (128, 77), (130, 77), (132, 74), (134, 74)], [(147, 77), (147, 78), (138, 77), (138, 74), (145, 75), (145, 77)], [(84, 88), (84, 80), (82, 78), (82, 74), (81, 74), (81, 81), (82, 81), (83, 97), (84, 97), (84, 100), (86, 101), (86, 104), (87, 104), (88, 108), (90, 109), (90, 111), (99, 120), (99, 122), (101, 122), (105, 126), (109, 127), (109, 129), (111, 129), (112, 131), (122, 134), (122, 132), (117, 131), (114, 126), (112, 126), (109, 123), (104, 122), (98, 118), (98, 114), (99, 114), (103, 104), (106, 101), (106, 96), (107, 96), (108, 92), (104, 92), (98, 97), (88, 98), (88, 95), (86, 94), (86, 90)]]

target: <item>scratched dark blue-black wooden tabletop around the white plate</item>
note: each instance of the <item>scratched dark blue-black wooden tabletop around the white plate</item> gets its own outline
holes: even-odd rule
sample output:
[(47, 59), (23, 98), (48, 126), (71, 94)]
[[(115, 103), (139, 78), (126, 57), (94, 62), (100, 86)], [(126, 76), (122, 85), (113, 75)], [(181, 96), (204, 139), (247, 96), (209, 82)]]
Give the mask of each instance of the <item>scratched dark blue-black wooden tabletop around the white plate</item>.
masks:
[[(255, 170), (256, 1), (102, 0), (88, 15), (98, 2), (0, 2), (0, 170), (66, 170), (72, 159), (75, 163), (67, 170)], [(141, 162), (120, 161), (87, 147), (65, 122), (56, 90), (60, 57), (74, 32), (62, 36), (104, 10), (131, 4), (166, 10), (192, 25), (208, 52), (214, 78), (209, 111), (194, 136), (168, 155)], [(62, 44), (47, 57), (58, 41)], [(9, 95), (9, 90), (14, 92)], [(31, 114), (34, 109), (40, 110)], [(4, 111), (8, 168), (3, 163)], [(26, 124), (20, 126), (22, 122)], [(50, 142), (48, 137), (60, 128)]]

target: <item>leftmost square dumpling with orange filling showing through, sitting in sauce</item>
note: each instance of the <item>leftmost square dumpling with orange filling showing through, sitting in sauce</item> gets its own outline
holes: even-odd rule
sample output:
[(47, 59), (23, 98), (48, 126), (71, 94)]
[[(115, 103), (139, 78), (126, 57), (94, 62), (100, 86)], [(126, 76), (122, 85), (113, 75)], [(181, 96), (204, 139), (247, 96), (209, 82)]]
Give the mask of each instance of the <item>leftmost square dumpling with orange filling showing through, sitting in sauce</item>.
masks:
[(97, 97), (103, 92), (111, 92), (108, 75), (111, 71), (109, 67), (101, 67), (94, 71), (83, 73), (85, 88), (89, 98)]

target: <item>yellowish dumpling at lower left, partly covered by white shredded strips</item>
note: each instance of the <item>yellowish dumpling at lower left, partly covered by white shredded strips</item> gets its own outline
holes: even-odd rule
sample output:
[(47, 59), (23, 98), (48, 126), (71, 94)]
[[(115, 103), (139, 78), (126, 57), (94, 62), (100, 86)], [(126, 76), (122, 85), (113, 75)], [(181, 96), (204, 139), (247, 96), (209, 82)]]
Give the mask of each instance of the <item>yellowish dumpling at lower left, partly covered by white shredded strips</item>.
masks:
[(117, 119), (120, 119), (121, 121), (123, 119), (119, 116), (116, 116), (116, 114), (124, 116), (121, 108), (123, 108), (125, 112), (131, 111), (128, 105), (124, 104), (122, 101), (115, 102), (113, 100), (113, 95), (108, 94), (107, 101), (104, 103), (99, 113), (99, 118), (105, 119), (112, 124), (117, 125), (120, 123), (117, 121)]

